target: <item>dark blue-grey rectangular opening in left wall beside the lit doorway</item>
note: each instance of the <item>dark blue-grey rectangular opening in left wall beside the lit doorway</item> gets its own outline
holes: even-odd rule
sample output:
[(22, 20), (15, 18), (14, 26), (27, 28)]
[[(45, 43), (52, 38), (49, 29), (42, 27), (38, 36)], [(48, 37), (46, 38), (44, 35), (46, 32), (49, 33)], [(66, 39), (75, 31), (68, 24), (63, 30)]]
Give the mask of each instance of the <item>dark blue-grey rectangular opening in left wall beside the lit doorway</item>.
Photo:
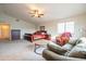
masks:
[(20, 29), (12, 29), (11, 30), (11, 39), (12, 40), (20, 40), (21, 39), (21, 30)]

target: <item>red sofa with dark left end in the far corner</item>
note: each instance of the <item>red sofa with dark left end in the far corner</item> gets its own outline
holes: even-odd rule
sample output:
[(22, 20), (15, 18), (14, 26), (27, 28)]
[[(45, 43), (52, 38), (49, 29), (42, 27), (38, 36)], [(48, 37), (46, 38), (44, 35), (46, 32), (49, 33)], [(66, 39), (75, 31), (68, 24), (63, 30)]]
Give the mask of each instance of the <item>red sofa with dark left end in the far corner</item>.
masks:
[(48, 35), (46, 30), (37, 30), (34, 34), (25, 34), (24, 39), (30, 42), (38, 39), (50, 40), (50, 35)]

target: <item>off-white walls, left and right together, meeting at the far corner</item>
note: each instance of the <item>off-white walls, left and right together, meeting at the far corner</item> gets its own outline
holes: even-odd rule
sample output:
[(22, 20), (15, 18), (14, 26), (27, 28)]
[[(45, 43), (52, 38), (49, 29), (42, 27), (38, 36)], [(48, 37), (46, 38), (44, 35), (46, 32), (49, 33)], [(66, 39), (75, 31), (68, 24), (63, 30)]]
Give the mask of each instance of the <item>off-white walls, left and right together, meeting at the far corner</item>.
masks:
[[(75, 37), (85, 36), (86, 37), (86, 14), (81, 14), (73, 17), (67, 17), (63, 20), (54, 20), (50, 22), (41, 23), (40, 25), (35, 25), (25, 21), (20, 20), (20, 22), (15, 21), (16, 18), (9, 16), (7, 14), (0, 13), (0, 23), (9, 23), (11, 25), (11, 29), (21, 29), (21, 38), (25, 33), (32, 34), (39, 29), (39, 26), (46, 26), (46, 30), (48, 34), (51, 34), (52, 37), (58, 36), (58, 23), (61, 22), (75, 22)], [(83, 31), (82, 31), (83, 29)]]

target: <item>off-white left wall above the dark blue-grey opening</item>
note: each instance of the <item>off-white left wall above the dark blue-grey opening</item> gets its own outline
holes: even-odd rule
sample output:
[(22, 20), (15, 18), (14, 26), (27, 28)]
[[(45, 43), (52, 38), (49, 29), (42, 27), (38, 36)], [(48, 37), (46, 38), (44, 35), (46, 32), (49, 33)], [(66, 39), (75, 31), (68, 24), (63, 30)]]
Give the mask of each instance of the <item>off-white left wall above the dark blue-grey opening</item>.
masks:
[(36, 30), (35, 24), (32, 24), (25, 21), (20, 20), (16, 22), (16, 18), (9, 16), (7, 14), (0, 13), (0, 23), (9, 23), (11, 25), (11, 29), (21, 29), (21, 38), (23, 38), (25, 33), (32, 34)]

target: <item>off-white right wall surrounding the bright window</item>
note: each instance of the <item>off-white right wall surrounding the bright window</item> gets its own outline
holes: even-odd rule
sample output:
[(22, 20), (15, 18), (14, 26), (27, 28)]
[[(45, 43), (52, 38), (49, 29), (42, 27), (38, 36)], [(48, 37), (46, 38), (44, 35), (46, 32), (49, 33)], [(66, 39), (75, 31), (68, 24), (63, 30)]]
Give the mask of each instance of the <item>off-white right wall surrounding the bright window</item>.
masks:
[[(52, 37), (58, 36), (58, 23), (61, 22), (75, 22), (75, 34), (74, 37), (86, 37), (86, 14), (81, 14), (67, 18), (62, 18), (62, 20), (54, 20), (50, 22), (45, 22), (41, 23), (41, 25), (46, 26), (46, 29), (48, 30), (49, 34), (51, 34)], [(83, 31), (82, 31), (83, 29)]]

